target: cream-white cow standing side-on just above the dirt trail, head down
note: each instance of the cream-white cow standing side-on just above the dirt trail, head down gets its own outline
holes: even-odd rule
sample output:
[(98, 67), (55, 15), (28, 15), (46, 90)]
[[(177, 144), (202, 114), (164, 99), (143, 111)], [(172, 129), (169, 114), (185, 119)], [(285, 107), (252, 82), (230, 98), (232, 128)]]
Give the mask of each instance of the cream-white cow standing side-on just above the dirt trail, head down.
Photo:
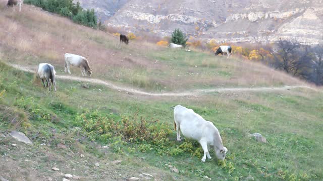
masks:
[(65, 57), (65, 69), (64, 69), (65, 72), (68, 71), (71, 74), (70, 65), (72, 65), (72, 66), (77, 66), (81, 68), (82, 76), (88, 75), (89, 77), (91, 77), (92, 70), (86, 58), (72, 53), (65, 53), (64, 57)]

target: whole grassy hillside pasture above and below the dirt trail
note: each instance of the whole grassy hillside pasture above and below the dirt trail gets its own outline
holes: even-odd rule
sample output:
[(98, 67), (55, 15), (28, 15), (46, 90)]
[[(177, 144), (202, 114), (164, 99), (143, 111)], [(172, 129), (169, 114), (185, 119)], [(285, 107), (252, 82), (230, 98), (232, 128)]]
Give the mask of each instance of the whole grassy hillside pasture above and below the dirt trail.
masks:
[[(126, 180), (146, 172), (156, 180), (323, 179), (320, 89), (149, 97), (57, 79), (58, 91), (48, 92), (34, 74), (6, 63), (36, 68), (48, 62), (63, 74), (64, 53), (76, 53), (89, 59), (93, 77), (150, 92), (305, 83), (239, 57), (140, 41), (119, 45), (110, 34), (27, 5), (22, 13), (0, 6), (0, 24), (0, 133), (6, 136), (0, 137), (0, 176), (62, 180), (71, 173), (81, 180)], [(229, 150), (225, 161), (211, 151), (212, 159), (203, 163), (196, 141), (176, 141), (176, 105), (216, 125)], [(33, 145), (15, 141), (11, 130), (24, 132)], [(250, 139), (250, 133), (261, 133), (268, 143)]]

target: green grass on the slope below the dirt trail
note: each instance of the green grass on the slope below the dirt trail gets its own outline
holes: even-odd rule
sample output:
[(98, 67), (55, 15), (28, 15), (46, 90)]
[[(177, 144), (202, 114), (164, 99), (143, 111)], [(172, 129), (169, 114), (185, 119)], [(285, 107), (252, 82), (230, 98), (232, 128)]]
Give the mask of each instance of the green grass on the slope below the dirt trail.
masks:
[[(90, 88), (85, 89), (78, 82), (60, 79), (57, 80), (58, 92), (55, 93), (43, 89), (33, 74), (3, 63), (0, 63), (0, 81), (0, 92), (6, 90), (0, 98), (0, 130), (18, 129), (31, 137), (36, 145), (45, 139), (51, 145), (47, 151), (63, 158), (68, 153), (56, 148), (59, 142), (64, 142), (71, 151), (86, 153), (93, 159), (121, 156), (129, 161), (126, 165), (132, 170), (140, 170), (142, 165), (162, 170), (167, 172), (164, 179), (168, 180), (173, 177), (197, 180), (204, 175), (216, 180), (245, 180), (248, 176), (255, 180), (323, 179), (323, 97), (319, 93), (299, 89), (282, 93), (244, 93), (235, 97), (210, 94), (199, 98), (151, 99), (125, 95), (95, 84), (89, 84)], [(193, 109), (218, 127), (224, 145), (229, 149), (225, 162), (218, 162), (211, 152), (213, 158), (202, 163), (201, 148), (196, 141), (175, 141), (172, 107), (178, 104)], [(97, 118), (93, 117), (97, 114), (116, 123), (123, 117), (132, 118), (137, 114), (138, 119), (133, 121), (141, 117), (148, 122), (159, 120), (161, 125), (156, 124), (155, 129), (172, 131), (163, 137), (167, 138), (164, 147), (149, 141), (129, 142), (93, 133), (100, 138), (95, 144), (110, 145), (111, 152), (106, 155), (98, 151), (89, 139), (90, 133), (83, 128), (86, 124), (78, 121), (84, 111), (89, 114), (88, 118)], [(15, 117), (17, 121), (13, 122)], [(246, 137), (254, 132), (265, 136), (268, 143), (258, 143)], [(189, 143), (192, 144), (192, 152), (183, 147)], [(7, 143), (0, 140), (0, 144)], [(43, 148), (34, 146), (29, 152), (36, 154), (38, 149)], [(10, 153), (0, 148), (0, 154)], [(18, 153), (11, 154), (17, 160), (22, 159)], [(73, 162), (78, 158), (69, 159)], [(134, 161), (138, 159), (140, 163)], [(59, 164), (64, 161), (50, 162)], [(47, 174), (46, 159), (38, 160), (38, 163), (35, 168)], [(180, 173), (169, 172), (168, 164), (176, 166)], [(98, 177), (102, 174), (100, 170), (88, 169)], [(120, 169), (130, 171), (122, 164)], [(79, 174), (86, 176), (86, 173)]]

